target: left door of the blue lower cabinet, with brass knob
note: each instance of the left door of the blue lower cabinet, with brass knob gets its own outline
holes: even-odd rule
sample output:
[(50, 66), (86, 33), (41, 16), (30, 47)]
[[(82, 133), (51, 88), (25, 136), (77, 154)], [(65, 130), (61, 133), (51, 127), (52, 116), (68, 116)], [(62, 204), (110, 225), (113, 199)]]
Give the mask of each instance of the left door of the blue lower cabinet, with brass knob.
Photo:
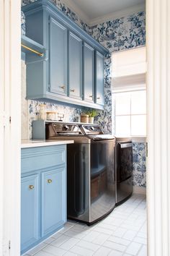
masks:
[(30, 247), (39, 239), (38, 175), (22, 178), (21, 182), (21, 249)]

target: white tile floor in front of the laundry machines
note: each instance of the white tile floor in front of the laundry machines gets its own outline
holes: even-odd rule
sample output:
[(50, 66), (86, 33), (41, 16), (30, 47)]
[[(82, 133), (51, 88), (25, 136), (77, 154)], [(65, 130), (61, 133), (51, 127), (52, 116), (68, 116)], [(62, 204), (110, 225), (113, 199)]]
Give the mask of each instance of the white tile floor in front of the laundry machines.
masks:
[(94, 226), (68, 221), (24, 256), (147, 256), (146, 197), (133, 195)]

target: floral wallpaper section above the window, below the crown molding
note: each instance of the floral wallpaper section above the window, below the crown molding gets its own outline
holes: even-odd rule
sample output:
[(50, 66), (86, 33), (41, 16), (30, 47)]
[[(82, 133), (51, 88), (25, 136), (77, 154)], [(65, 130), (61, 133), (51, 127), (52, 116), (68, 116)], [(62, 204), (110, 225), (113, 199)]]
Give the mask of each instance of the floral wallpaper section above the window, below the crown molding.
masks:
[(89, 34), (110, 52), (143, 46), (146, 43), (145, 12), (89, 27)]

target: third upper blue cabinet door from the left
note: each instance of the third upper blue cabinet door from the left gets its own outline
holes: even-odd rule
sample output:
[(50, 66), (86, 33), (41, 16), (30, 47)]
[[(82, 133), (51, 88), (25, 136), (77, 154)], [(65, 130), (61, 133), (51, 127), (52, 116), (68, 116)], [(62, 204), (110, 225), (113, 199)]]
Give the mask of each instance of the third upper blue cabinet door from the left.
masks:
[(94, 48), (84, 43), (84, 101), (94, 103)]

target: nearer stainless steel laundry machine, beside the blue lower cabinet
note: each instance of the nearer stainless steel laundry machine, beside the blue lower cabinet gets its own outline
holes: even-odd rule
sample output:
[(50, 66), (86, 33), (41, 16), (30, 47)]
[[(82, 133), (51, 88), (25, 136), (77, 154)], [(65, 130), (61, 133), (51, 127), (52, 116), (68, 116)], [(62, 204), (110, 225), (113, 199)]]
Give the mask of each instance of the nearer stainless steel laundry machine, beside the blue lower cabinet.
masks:
[(67, 146), (68, 218), (89, 225), (115, 208), (115, 137), (97, 124), (47, 122), (46, 139)]

